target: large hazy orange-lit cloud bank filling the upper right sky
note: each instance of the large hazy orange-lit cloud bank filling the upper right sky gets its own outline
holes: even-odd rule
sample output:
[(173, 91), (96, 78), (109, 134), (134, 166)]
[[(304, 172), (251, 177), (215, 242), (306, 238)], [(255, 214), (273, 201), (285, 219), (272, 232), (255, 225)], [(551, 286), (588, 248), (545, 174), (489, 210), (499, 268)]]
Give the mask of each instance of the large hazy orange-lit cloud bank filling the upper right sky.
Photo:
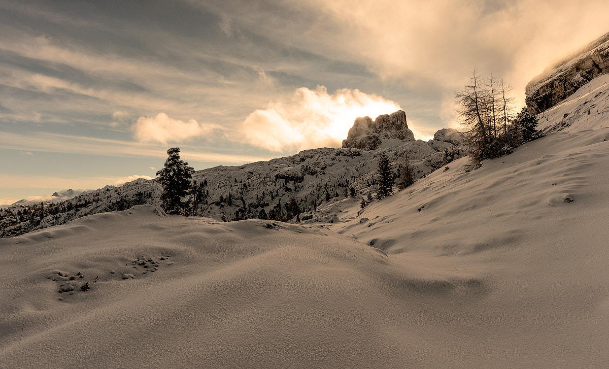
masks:
[[(309, 5), (335, 22), (334, 32), (322, 41), (329, 44), (325, 47), (362, 58), (384, 79), (417, 76), (455, 91), (477, 66), (515, 86), (519, 106), (532, 77), (607, 32), (609, 20), (605, 0), (362, 0), (357, 5), (312, 0)], [(449, 94), (444, 100), (454, 103)], [(445, 113), (443, 119), (454, 119)]]

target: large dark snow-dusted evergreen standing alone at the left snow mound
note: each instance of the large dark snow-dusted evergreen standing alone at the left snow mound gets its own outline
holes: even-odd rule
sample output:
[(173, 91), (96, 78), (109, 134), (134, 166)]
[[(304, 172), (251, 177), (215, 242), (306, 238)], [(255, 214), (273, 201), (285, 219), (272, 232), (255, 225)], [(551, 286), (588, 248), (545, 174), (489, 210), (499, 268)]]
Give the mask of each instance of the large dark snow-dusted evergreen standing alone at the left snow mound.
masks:
[(182, 198), (189, 193), (194, 168), (180, 160), (179, 147), (167, 150), (167, 155), (163, 169), (157, 172), (158, 183), (163, 187), (161, 205), (167, 214), (180, 214), (190, 203), (190, 200), (183, 201)]

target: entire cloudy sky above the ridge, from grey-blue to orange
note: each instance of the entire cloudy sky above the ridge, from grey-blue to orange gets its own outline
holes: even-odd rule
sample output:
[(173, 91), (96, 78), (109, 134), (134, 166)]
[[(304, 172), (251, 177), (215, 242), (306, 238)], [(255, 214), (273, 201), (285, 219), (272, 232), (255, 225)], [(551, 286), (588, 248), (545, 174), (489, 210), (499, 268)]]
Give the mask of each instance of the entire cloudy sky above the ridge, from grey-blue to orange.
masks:
[[(606, 0), (0, 0), (0, 203), (340, 147), (357, 116), (458, 127), (474, 66), (524, 86)], [(147, 177), (146, 177), (147, 176)]]

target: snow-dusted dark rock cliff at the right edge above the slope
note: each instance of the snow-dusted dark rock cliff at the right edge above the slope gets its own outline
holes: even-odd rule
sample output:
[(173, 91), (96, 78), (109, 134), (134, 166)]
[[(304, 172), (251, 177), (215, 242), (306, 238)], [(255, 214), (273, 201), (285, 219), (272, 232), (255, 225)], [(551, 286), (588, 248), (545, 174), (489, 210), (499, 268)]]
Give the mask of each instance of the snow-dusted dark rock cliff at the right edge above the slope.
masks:
[(526, 104), (541, 113), (571, 96), (596, 76), (609, 72), (609, 33), (546, 68), (526, 86)]

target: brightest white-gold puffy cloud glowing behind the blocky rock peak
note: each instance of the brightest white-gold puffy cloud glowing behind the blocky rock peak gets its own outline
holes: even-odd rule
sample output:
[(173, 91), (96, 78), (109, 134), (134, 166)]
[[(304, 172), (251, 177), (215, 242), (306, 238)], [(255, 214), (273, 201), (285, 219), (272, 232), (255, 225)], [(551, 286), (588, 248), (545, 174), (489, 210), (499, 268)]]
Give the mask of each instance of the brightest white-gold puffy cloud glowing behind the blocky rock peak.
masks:
[(242, 124), (242, 140), (276, 152), (340, 147), (358, 116), (374, 119), (397, 110), (396, 102), (359, 90), (328, 94), (325, 86), (301, 87), (291, 99), (251, 113)]

